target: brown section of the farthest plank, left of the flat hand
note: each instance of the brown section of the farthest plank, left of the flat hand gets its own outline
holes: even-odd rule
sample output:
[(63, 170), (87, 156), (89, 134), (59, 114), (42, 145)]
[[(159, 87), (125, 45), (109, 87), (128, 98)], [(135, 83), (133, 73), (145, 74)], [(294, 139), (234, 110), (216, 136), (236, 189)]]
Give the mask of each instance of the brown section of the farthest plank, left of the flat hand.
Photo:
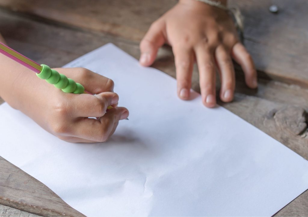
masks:
[(30, 0), (26, 2), (4, 0), (0, 2), (0, 6), (69, 26), (140, 41), (152, 21), (159, 18), (176, 2), (177, 0)]

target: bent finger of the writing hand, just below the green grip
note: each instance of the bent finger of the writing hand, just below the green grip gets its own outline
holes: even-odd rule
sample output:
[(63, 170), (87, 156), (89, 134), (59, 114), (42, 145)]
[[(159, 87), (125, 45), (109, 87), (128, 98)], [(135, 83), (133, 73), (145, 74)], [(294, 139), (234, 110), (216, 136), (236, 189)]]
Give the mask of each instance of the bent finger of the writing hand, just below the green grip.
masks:
[(71, 98), (69, 114), (78, 117), (102, 117), (108, 106), (116, 104), (119, 96), (114, 92), (103, 92), (97, 95), (76, 94)]

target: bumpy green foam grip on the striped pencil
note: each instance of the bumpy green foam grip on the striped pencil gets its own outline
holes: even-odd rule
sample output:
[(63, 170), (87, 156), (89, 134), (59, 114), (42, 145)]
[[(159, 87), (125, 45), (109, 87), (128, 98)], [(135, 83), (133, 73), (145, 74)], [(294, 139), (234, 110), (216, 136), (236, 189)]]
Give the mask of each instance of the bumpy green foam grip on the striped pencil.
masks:
[(47, 65), (42, 64), (41, 66), (42, 71), (36, 74), (40, 79), (46, 80), (65, 93), (84, 93), (84, 87), (80, 83), (76, 83), (73, 79), (67, 78)]

